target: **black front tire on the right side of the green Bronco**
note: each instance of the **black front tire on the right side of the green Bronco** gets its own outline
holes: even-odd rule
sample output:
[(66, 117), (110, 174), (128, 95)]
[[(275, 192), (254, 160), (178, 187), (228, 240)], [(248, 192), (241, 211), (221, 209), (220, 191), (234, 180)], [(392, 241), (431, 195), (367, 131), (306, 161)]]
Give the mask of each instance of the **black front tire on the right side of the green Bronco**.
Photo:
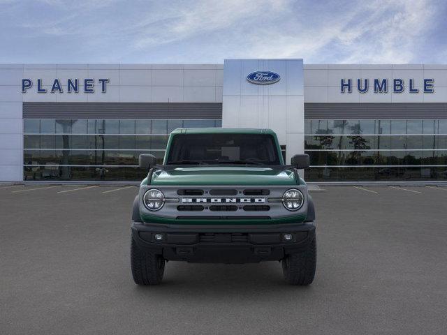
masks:
[(316, 237), (300, 253), (291, 253), (282, 260), (284, 278), (291, 285), (309, 285), (316, 269)]

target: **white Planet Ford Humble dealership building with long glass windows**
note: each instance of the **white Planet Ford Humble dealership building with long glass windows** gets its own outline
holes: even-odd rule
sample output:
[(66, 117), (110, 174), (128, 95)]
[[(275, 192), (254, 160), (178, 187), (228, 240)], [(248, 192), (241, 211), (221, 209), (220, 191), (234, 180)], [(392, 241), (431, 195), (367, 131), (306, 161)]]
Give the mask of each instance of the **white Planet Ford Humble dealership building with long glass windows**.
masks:
[(447, 181), (447, 65), (0, 64), (0, 181), (138, 181), (179, 127), (271, 128), (307, 181)]

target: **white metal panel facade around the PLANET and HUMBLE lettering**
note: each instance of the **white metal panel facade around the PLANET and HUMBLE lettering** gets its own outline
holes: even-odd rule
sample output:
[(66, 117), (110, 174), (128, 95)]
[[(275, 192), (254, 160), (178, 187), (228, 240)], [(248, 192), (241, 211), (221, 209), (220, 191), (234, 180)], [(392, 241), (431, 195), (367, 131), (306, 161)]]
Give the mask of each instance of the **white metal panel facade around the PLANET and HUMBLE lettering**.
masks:
[[(275, 71), (281, 80), (268, 87), (249, 84), (244, 77), (252, 70)], [(105, 93), (98, 86), (94, 93), (67, 92), (70, 78), (101, 77), (109, 80)], [(24, 78), (34, 82), (26, 93), (22, 93)], [(419, 91), (375, 93), (369, 89), (360, 93), (355, 89), (356, 80), (374, 78), (389, 82), (411, 79)], [(423, 92), (425, 78), (433, 80), (433, 93)], [(37, 92), (38, 79), (46, 93)], [(62, 93), (50, 92), (54, 79), (60, 80)], [(342, 79), (353, 81), (351, 93), (340, 91)], [(304, 151), (304, 103), (446, 103), (447, 65), (303, 66), (300, 59), (228, 60), (225, 66), (0, 64), (0, 181), (23, 178), (24, 102), (223, 103), (223, 126), (272, 128), (281, 144), (287, 145), (290, 156)]]

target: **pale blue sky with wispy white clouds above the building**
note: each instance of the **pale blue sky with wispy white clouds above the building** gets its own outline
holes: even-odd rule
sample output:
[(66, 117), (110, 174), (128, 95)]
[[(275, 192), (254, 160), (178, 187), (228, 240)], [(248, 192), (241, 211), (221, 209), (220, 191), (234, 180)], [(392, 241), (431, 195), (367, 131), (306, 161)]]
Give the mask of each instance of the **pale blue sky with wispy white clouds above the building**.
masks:
[(0, 63), (446, 64), (446, 0), (0, 0)]

